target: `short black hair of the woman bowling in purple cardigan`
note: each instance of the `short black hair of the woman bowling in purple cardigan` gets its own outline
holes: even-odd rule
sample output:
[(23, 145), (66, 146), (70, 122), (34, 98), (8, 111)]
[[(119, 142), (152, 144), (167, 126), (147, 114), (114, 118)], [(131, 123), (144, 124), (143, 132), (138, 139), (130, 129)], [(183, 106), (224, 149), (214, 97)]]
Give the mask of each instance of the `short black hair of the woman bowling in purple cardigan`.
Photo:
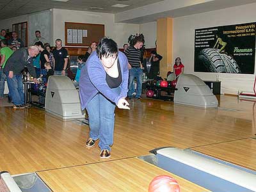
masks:
[(102, 56), (111, 56), (118, 54), (118, 47), (114, 40), (111, 38), (102, 38), (97, 46), (97, 56), (101, 59)]

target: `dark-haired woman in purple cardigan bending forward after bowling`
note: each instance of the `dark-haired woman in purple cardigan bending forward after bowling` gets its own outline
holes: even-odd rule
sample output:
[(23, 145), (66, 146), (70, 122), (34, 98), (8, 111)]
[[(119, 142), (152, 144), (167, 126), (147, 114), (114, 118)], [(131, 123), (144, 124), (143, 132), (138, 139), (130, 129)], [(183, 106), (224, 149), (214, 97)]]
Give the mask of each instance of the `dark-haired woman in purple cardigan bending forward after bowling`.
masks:
[(81, 107), (86, 108), (90, 124), (86, 147), (93, 147), (99, 140), (100, 158), (110, 157), (115, 107), (130, 109), (125, 100), (128, 77), (128, 61), (124, 53), (118, 51), (116, 42), (102, 38), (82, 68), (79, 79)]

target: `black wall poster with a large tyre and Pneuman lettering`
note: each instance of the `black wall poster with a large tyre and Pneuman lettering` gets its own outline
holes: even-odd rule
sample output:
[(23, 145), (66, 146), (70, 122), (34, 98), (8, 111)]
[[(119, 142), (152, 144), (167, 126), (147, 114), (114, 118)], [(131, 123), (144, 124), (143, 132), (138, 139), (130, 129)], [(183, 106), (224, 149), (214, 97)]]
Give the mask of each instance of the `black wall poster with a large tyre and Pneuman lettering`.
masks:
[(195, 72), (254, 74), (255, 26), (195, 29)]

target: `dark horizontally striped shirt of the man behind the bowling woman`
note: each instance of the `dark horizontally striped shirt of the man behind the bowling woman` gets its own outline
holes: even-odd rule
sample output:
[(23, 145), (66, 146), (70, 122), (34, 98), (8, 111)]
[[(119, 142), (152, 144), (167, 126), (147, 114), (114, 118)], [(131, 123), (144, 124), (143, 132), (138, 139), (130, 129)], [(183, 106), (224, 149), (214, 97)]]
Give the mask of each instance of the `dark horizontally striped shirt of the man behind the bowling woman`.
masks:
[(125, 50), (128, 62), (132, 67), (140, 67), (141, 51), (134, 46), (130, 46)]

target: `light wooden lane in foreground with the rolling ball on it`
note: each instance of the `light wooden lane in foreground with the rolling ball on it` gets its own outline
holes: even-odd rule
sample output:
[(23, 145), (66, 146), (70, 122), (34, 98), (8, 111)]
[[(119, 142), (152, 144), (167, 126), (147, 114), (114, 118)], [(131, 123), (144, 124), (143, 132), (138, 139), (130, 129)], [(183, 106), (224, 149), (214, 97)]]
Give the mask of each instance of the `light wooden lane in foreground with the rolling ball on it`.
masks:
[(145, 192), (157, 175), (173, 177), (182, 192), (209, 191), (136, 157), (37, 173), (54, 192)]

